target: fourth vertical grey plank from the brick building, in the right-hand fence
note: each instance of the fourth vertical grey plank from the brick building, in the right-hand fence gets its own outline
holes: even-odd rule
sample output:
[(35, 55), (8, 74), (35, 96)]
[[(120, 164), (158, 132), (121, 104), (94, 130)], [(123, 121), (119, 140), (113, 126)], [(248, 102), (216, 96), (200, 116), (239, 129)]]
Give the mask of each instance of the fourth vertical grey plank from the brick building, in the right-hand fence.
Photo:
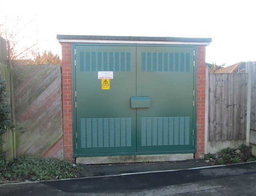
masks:
[(228, 140), (234, 139), (234, 77), (228, 74)]

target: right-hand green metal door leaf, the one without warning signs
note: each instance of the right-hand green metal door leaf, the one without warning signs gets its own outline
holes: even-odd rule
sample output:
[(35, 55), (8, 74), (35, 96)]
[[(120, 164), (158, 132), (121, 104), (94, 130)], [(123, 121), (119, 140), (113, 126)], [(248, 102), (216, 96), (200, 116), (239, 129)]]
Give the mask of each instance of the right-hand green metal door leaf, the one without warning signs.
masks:
[(137, 47), (137, 151), (193, 150), (194, 48)]

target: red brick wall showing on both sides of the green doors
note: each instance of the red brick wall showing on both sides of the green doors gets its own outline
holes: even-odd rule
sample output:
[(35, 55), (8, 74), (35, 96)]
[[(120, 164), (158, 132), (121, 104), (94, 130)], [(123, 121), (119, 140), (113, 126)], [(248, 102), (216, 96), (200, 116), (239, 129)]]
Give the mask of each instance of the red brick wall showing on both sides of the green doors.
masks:
[[(62, 104), (64, 158), (73, 159), (72, 143), (72, 91), (71, 91), (71, 44), (62, 45)], [(205, 114), (205, 47), (198, 46), (197, 87), (197, 141), (195, 158), (204, 156), (204, 114)]]

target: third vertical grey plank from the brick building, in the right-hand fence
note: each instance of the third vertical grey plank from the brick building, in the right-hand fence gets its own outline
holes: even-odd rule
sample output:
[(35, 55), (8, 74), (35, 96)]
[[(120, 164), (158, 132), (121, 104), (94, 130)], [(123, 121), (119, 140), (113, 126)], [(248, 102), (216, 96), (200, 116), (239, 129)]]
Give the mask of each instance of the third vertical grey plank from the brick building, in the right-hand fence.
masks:
[(228, 139), (228, 74), (222, 74), (222, 141)]

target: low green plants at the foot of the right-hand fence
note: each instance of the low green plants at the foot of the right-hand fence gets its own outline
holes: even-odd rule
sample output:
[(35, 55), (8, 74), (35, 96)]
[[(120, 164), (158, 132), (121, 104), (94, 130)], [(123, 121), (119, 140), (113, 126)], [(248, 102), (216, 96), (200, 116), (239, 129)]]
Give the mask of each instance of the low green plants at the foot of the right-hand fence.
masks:
[(228, 147), (216, 154), (205, 154), (204, 160), (211, 165), (225, 165), (254, 161), (256, 157), (252, 155), (252, 147), (242, 144), (238, 149)]

